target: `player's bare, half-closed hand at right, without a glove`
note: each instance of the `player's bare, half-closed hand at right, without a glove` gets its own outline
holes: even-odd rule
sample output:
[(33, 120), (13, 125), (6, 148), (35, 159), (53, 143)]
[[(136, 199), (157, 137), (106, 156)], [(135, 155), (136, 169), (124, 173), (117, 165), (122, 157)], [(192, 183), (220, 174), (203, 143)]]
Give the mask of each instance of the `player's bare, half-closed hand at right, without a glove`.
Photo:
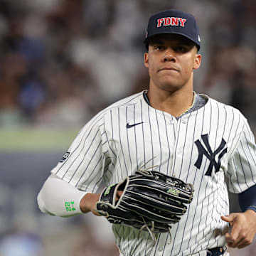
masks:
[(231, 213), (221, 216), (221, 219), (230, 223), (232, 230), (225, 234), (229, 247), (242, 248), (252, 243), (256, 233), (256, 213), (247, 210), (245, 213)]

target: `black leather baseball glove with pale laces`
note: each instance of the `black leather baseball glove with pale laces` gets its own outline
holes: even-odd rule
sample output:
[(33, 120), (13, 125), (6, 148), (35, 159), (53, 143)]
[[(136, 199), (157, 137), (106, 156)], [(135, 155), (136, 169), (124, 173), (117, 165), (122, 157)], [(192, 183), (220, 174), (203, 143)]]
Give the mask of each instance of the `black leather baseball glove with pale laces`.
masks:
[[(120, 198), (117, 191), (122, 191)], [(192, 199), (192, 184), (158, 171), (136, 171), (105, 188), (96, 208), (110, 223), (166, 233), (186, 213), (185, 203)]]

